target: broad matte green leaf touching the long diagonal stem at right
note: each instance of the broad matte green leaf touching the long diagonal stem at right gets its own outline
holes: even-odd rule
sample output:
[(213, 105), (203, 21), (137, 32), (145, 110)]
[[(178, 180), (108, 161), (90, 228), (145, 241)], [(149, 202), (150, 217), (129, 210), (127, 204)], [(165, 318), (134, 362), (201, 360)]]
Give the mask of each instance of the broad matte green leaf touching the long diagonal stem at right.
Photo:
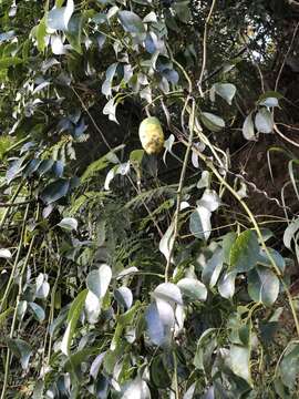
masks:
[(254, 268), (259, 258), (259, 245), (255, 232), (243, 232), (231, 245), (229, 254), (229, 269), (243, 273)]

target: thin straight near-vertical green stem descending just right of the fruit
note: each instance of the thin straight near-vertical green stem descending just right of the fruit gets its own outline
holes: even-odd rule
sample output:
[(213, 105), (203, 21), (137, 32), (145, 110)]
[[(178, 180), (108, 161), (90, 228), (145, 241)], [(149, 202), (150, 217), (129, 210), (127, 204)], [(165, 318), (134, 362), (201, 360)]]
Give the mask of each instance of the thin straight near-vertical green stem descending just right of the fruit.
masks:
[[(186, 102), (188, 102), (188, 100), (189, 99), (187, 99)], [(192, 112), (190, 112), (190, 116), (189, 116), (189, 139), (186, 144), (187, 149), (185, 152), (185, 157), (184, 157), (181, 177), (179, 177), (179, 184), (178, 184), (178, 188), (177, 188), (176, 209), (175, 209), (174, 222), (173, 222), (174, 223), (174, 232), (173, 232), (173, 236), (169, 242), (169, 254), (168, 254), (167, 264), (165, 267), (165, 283), (168, 282), (168, 273), (169, 273), (172, 256), (173, 256), (173, 252), (174, 252), (175, 241), (178, 235), (178, 219), (179, 219), (178, 216), (179, 216), (179, 211), (181, 211), (182, 193), (183, 193), (183, 188), (184, 188), (184, 181), (185, 181), (185, 175), (186, 175), (186, 170), (187, 170), (187, 163), (188, 163), (188, 158), (189, 158), (189, 154), (190, 154), (190, 150), (192, 150), (192, 145), (193, 145), (194, 122), (195, 122), (195, 100), (193, 99)]]

